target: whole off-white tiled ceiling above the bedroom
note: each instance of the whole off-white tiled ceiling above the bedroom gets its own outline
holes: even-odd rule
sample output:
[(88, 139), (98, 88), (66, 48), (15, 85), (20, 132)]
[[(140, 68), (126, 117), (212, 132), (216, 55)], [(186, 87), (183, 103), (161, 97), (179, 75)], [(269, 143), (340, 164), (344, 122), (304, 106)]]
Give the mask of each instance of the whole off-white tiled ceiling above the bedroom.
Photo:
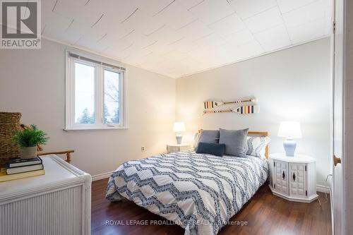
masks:
[(42, 0), (42, 35), (172, 78), (330, 34), (330, 0)]

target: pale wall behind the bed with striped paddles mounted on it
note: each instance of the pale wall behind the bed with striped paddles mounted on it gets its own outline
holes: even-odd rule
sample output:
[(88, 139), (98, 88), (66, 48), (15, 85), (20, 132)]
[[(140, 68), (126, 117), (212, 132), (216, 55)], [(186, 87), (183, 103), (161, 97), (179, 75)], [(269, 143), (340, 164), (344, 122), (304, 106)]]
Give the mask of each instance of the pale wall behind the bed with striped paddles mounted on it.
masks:
[[(205, 100), (258, 98), (259, 114), (205, 114)], [(327, 186), (330, 157), (330, 40), (243, 61), (177, 79), (177, 121), (185, 121), (185, 140), (198, 128), (268, 131), (270, 152), (284, 152), (277, 137), (280, 121), (301, 122), (297, 153), (316, 158), (317, 183)]]

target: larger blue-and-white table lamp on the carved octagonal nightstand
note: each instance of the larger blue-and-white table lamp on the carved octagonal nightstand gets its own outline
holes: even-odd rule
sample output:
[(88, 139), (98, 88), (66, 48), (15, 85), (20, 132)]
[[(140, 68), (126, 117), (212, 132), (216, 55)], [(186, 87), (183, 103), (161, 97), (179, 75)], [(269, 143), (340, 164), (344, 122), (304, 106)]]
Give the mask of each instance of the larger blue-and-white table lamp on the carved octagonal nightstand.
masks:
[(294, 157), (295, 148), (297, 147), (294, 138), (301, 138), (300, 123), (298, 121), (282, 121), (278, 130), (278, 136), (286, 138), (283, 142), (286, 155)]

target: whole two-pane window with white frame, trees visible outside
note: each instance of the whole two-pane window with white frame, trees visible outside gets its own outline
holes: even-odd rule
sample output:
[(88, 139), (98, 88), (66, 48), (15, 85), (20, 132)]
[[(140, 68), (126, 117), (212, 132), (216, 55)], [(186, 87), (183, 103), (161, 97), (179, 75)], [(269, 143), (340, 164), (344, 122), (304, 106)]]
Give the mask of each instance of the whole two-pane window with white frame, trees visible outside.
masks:
[(66, 52), (65, 129), (127, 128), (125, 76), (118, 65)]

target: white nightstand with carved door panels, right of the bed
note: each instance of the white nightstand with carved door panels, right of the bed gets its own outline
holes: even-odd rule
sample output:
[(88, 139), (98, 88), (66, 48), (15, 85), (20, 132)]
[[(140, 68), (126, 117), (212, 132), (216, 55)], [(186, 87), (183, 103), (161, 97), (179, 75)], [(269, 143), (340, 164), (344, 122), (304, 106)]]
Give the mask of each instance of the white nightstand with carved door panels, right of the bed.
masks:
[(305, 155), (269, 156), (270, 189), (274, 195), (294, 202), (311, 203), (316, 194), (315, 159)]

